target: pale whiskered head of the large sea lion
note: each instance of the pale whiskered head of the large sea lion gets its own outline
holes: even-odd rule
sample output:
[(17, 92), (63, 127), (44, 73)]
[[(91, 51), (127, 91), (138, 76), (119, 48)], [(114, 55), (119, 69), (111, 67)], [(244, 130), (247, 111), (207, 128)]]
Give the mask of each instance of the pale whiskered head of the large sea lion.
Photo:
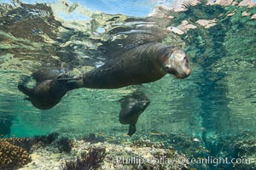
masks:
[(164, 54), (164, 70), (177, 78), (189, 77), (189, 59), (182, 48), (167, 48)]

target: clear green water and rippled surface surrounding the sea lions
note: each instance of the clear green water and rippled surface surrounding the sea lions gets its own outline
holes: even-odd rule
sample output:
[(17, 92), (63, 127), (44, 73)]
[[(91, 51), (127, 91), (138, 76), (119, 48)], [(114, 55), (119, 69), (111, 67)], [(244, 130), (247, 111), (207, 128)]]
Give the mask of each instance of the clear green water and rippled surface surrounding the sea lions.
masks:
[[(139, 89), (151, 103), (137, 122), (134, 138), (161, 140), (154, 139), (152, 132), (186, 134), (206, 143), (249, 131), (255, 139), (256, 21), (251, 19), (255, 7), (188, 5), (188, 10), (175, 13), (170, 8), (176, 1), (93, 2), (1, 1), (0, 122), (2, 129), (12, 124), (11, 137), (61, 132), (71, 137), (96, 133), (127, 139), (128, 127), (118, 118), (119, 99)], [(241, 16), (244, 11), (249, 15)], [(217, 22), (204, 28), (196, 24), (201, 19)], [(163, 31), (177, 28), (183, 20), (197, 28), (183, 35)], [(17, 85), (27, 79), (32, 87), (32, 72), (42, 67), (70, 75), (87, 71), (124, 50), (123, 37), (140, 31), (185, 48), (191, 76), (179, 80), (168, 75), (157, 82), (114, 90), (73, 90), (47, 111), (23, 100)], [(137, 45), (139, 38), (131, 39), (131, 44)]]

